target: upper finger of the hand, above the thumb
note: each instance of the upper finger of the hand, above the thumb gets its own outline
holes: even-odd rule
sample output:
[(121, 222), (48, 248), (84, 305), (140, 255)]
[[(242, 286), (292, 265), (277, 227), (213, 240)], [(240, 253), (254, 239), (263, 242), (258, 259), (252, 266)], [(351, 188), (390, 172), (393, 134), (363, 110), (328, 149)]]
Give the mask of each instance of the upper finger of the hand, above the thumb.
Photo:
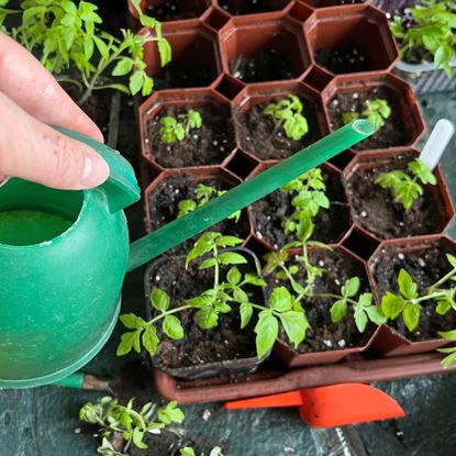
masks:
[(103, 141), (98, 126), (71, 100), (51, 73), (25, 48), (2, 33), (0, 91), (44, 123)]

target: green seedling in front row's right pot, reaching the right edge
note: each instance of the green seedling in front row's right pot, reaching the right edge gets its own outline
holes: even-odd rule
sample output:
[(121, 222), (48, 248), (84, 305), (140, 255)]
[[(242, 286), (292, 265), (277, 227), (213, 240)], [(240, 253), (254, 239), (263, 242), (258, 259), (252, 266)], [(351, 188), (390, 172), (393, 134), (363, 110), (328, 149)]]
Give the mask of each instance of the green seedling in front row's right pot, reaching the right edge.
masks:
[[(435, 300), (437, 302), (435, 311), (441, 315), (446, 314), (451, 309), (456, 310), (456, 286), (453, 285), (456, 280), (456, 257), (446, 254), (446, 258), (452, 266), (449, 273), (425, 288), (422, 293), (419, 293), (418, 285), (410, 274), (401, 269), (397, 279), (399, 292), (388, 291), (381, 298), (381, 310), (385, 316), (396, 320), (402, 315), (407, 329), (412, 332), (420, 323), (422, 302)], [(453, 286), (448, 288), (448, 285)]]

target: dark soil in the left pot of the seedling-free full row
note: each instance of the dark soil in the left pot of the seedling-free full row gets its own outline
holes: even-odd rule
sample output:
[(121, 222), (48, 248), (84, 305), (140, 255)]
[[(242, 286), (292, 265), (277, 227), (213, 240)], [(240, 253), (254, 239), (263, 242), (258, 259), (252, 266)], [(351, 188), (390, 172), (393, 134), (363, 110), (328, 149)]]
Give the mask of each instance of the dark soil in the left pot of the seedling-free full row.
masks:
[[(189, 53), (207, 52), (202, 49), (188, 51)], [(214, 65), (202, 63), (171, 62), (154, 76), (155, 90), (186, 89), (189, 87), (210, 86), (218, 76)]]

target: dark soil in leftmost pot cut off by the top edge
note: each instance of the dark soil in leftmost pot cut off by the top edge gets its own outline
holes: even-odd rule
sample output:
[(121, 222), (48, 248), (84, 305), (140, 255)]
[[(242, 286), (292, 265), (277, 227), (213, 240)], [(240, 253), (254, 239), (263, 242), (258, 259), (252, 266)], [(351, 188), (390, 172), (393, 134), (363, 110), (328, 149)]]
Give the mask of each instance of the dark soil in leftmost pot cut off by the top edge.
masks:
[(149, 4), (146, 12), (157, 21), (177, 21), (200, 16), (209, 4), (209, 0), (165, 0)]

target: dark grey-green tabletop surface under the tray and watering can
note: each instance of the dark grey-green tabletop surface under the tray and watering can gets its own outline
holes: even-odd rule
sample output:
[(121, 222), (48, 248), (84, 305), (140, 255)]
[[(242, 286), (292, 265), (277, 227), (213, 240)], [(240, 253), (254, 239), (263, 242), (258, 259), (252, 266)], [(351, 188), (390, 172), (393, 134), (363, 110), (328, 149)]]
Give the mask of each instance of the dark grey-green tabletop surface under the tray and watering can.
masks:
[[(424, 113), (432, 125), (438, 118), (455, 119), (455, 94), (426, 97)], [(131, 115), (126, 115), (133, 121)], [(134, 125), (130, 125), (134, 129)], [(129, 130), (129, 129), (126, 129)], [(120, 149), (134, 157), (135, 145), (121, 134)], [(456, 197), (454, 154), (456, 142), (443, 157), (445, 176)], [(141, 235), (141, 205), (129, 210), (132, 237)], [(452, 227), (455, 233), (455, 226)], [(124, 310), (141, 312), (142, 271), (130, 275), (124, 287)], [(85, 369), (103, 376), (115, 376), (123, 364), (115, 357), (118, 329), (97, 358)], [(404, 420), (356, 426), (365, 443), (366, 453), (375, 456), (448, 456), (456, 454), (455, 393), (456, 375), (419, 378), (378, 385), (405, 409)], [(30, 390), (0, 390), (0, 456), (91, 456), (96, 441), (77, 435), (78, 410), (101, 394), (43, 387)], [(155, 393), (151, 399), (156, 398)], [(315, 445), (315, 435), (304, 426), (297, 410), (249, 410), (225, 412), (220, 404), (199, 404), (183, 408), (187, 414), (183, 429), (189, 436), (212, 436), (229, 446), (232, 456), (330, 456)], [(207, 421), (203, 415), (208, 418)], [(331, 453), (333, 456), (343, 452)], [(162, 456), (162, 455), (157, 455)], [(347, 456), (345, 454), (345, 456)]]

